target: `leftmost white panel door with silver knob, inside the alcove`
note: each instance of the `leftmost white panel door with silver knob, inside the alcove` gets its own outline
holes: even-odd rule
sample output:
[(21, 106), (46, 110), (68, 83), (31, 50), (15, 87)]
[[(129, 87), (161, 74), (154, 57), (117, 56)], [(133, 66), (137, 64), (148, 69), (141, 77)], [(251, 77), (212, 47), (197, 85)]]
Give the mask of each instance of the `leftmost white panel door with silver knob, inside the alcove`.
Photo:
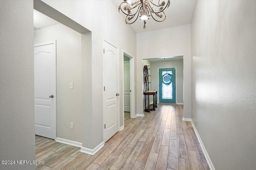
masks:
[(56, 139), (56, 41), (34, 44), (35, 133)]

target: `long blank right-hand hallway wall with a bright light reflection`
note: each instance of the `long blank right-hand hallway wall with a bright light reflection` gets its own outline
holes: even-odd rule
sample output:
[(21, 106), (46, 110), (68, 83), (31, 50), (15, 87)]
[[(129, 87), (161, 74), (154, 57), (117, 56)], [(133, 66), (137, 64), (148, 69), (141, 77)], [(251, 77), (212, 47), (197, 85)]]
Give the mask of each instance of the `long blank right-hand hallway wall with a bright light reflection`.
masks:
[(192, 120), (216, 170), (256, 167), (256, 1), (197, 1)]

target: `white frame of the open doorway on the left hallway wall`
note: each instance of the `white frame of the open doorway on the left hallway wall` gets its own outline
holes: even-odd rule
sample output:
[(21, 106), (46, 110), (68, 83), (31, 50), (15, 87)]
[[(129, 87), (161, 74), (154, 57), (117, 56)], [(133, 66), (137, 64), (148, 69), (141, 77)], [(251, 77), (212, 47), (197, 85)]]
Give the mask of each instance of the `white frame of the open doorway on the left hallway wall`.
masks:
[[(137, 114), (135, 115), (135, 86), (134, 86), (134, 56), (131, 55), (130, 53), (128, 53), (127, 51), (125, 51), (124, 49), (122, 50), (122, 73), (123, 73), (123, 89), (124, 89), (124, 55), (130, 58), (130, 89), (132, 90), (130, 93), (130, 118), (134, 119), (137, 117)], [(124, 101), (124, 93), (122, 93), (122, 97), (123, 97), (123, 101)], [(123, 107), (123, 111), (124, 111), (124, 105)], [(124, 113), (123, 113), (123, 120), (124, 120)], [(124, 123), (124, 122), (123, 122)]]

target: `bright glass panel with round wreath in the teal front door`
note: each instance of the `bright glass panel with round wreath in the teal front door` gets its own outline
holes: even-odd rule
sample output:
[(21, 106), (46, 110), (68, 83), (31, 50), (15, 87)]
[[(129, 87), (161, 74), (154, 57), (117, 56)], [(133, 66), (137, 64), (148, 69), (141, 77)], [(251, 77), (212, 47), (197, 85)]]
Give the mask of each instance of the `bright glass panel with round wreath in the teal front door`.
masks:
[(172, 99), (172, 71), (162, 71), (162, 99)]

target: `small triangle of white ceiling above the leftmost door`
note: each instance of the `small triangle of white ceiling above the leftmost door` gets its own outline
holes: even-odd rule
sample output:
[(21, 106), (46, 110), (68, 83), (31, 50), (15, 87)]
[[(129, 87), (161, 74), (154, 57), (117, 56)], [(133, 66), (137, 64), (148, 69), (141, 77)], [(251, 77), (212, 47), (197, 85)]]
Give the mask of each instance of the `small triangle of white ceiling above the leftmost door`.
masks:
[(41, 12), (34, 10), (34, 26), (38, 28), (45, 28), (45, 27), (56, 25), (56, 24), (60, 24), (60, 23), (42, 14)]

